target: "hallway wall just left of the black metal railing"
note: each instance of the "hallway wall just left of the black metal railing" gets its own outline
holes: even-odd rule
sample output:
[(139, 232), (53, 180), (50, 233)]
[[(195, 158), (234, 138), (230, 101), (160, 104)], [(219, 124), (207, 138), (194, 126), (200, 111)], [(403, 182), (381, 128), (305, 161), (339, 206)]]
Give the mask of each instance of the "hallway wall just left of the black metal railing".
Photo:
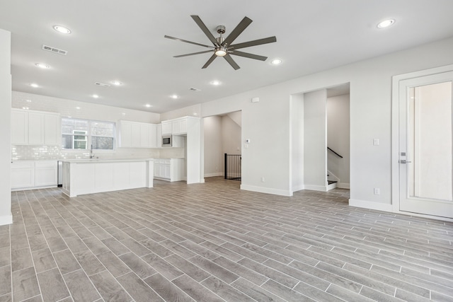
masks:
[(205, 137), (205, 177), (222, 175), (222, 117), (214, 115), (203, 119)]

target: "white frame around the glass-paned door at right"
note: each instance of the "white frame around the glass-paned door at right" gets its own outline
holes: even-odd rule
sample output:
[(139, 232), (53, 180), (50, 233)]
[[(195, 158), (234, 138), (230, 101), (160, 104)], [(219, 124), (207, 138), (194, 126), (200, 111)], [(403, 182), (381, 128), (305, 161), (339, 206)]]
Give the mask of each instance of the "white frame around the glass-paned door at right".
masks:
[[(453, 71), (453, 64), (440, 66), (432, 69), (414, 71), (408, 74), (392, 76), (391, 79), (391, 207), (392, 211), (401, 214), (409, 214), (399, 210), (399, 83), (403, 80), (414, 79), (421, 76), (430, 76), (442, 72)], [(453, 221), (453, 219), (431, 216), (426, 214), (410, 213), (411, 216), (421, 216), (443, 221)]]

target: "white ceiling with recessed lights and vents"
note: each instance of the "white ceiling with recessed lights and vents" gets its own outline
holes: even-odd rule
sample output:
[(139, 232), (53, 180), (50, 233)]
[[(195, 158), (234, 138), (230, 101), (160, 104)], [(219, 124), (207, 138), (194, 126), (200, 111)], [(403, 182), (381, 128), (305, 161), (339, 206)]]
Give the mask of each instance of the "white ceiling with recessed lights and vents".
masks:
[[(452, 13), (452, 0), (0, 0), (0, 28), (12, 33), (14, 91), (161, 113), (452, 37)], [(228, 35), (248, 16), (253, 23), (236, 43), (273, 35), (277, 42), (242, 50), (269, 57), (265, 62), (234, 56), (237, 71), (222, 58), (201, 69), (211, 54), (173, 56), (206, 48), (164, 38), (209, 45), (190, 15), (215, 36), (217, 25)], [(386, 18), (396, 23), (379, 30)], [(274, 58), (282, 64), (271, 65)], [(51, 68), (38, 69), (38, 62)], [(123, 85), (94, 84), (113, 80)], [(170, 98), (175, 93), (180, 98)]]

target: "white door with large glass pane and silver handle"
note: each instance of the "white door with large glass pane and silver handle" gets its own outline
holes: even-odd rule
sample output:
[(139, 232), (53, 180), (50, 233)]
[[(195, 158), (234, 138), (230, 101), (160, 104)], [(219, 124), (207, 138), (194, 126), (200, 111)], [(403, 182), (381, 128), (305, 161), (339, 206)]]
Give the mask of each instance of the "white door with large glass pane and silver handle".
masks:
[(453, 218), (453, 71), (399, 82), (400, 211)]

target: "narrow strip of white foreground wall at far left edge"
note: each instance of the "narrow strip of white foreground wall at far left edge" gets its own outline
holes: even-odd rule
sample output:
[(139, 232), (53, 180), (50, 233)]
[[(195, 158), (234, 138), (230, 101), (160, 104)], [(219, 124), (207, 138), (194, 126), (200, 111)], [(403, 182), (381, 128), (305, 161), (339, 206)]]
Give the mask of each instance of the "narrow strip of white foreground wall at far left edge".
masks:
[(11, 214), (11, 33), (0, 29), (0, 226)]

